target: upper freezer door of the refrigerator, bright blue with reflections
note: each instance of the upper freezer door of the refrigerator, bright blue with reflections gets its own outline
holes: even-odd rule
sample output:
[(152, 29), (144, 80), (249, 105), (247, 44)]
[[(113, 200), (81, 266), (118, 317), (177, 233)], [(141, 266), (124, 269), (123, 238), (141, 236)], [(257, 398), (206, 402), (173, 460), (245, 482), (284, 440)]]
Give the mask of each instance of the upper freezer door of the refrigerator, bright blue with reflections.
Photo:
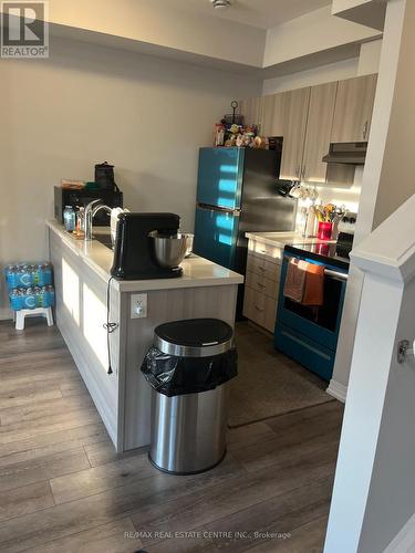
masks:
[(243, 148), (200, 148), (197, 202), (239, 209), (243, 159)]

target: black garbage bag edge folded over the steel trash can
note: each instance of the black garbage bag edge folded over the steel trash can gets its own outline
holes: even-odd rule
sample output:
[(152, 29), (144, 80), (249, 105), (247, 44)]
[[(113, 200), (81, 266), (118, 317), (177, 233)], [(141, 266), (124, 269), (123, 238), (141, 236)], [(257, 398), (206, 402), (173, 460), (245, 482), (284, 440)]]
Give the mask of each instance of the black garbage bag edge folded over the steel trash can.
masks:
[(154, 389), (168, 397), (208, 392), (238, 375), (238, 355), (234, 347), (210, 357), (176, 357), (151, 347), (142, 373)]

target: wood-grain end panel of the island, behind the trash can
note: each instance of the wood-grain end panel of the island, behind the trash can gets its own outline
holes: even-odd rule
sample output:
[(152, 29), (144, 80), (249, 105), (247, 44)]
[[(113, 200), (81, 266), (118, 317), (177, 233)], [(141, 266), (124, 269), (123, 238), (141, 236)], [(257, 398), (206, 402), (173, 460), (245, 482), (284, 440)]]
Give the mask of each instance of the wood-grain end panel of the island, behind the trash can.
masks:
[(152, 387), (142, 375), (141, 365), (153, 343), (154, 328), (166, 322), (197, 317), (221, 319), (234, 327), (237, 293), (236, 284), (148, 292), (148, 316), (129, 320), (127, 324), (125, 450), (148, 446), (151, 441)]

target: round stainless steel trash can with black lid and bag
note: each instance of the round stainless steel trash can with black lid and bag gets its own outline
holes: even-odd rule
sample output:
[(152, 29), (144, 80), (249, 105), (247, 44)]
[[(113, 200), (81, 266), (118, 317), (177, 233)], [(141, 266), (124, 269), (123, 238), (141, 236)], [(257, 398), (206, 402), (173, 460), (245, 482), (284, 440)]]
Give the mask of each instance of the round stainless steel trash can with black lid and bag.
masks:
[(162, 385), (153, 386), (149, 460), (174, 474), (214, 468), (226, 455), (228, 380), (237, 372), (232, 328), (211, 319), (160, 325), (147, 359), (153, 372), (154, 355)]

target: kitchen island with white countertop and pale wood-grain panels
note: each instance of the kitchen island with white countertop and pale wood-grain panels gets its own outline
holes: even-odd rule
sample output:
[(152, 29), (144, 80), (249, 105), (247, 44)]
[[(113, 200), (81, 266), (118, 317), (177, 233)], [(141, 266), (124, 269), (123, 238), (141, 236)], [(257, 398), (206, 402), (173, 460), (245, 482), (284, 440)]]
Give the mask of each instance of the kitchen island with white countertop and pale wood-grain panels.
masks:
[[(151, 387), (139, 368), (154, 328), (183, 319), (216, 317), (234, 325), (238, 284), (243, 278), (193, 255), (177, 279), (111, 280), (113, 252), (96, 240), (75, 240), (48, 221), (54, 269), (56, 324), (117, 451), (149, 445)], [(106, 230), (107, 232), (107, 230)], [(108, 285), (110, 282), (110, 285)], [(107, 292), (110, 355), (107, 374)], [(132, 294), (147, 299), (147, 316), (132, 319)]]

